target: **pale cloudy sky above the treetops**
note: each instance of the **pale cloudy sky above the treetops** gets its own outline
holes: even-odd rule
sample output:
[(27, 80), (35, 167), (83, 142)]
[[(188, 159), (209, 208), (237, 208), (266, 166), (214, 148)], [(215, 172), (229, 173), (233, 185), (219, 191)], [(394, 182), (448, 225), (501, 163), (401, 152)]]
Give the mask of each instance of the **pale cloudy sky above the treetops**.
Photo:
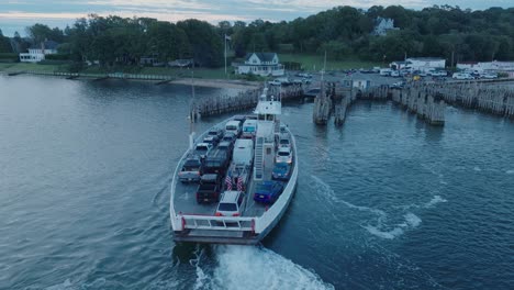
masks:
[(171, 22), (194, 18), (216, 24), (223, 20), (290, 21), (337, 5), (367, 9), (400, 4), (422, 9), (448, 2), (472, 10), (514, 7), (513, 0), (0, 0), (0, 30), (7, 36), (12, 36), (15, 31), (24, 35), (25, 27), (34, 23), (65, 27), (89, 13), (147, 16)]

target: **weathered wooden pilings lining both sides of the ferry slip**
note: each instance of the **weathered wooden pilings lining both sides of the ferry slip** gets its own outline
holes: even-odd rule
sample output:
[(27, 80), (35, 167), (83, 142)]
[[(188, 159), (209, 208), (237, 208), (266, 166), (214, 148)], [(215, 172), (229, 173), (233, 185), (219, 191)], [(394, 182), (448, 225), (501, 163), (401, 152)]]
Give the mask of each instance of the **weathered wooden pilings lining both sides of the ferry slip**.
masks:
[[(241, 91), (236, 96), (212, 96), (194, 100), (191, 112), (199, 115), (223, 114), (255, 108), (262, 88)], [(303, 99), (303, 86), (270, 87), (269, 93), (281, 100)], [(313, 122), (327, 124), (345, 122), (348, 108), (356, 99), (387, 101), (405, 108), (432, 125), (445, 123), (446, 104), (478, 109), (501, 116), (514, 118), (514, 89), (477, 82), (424, 83), (410, 82), (404, 88), (377, 86), (367, 89), (340, 87), (325, 82), (322, 93), (314, 100)]]

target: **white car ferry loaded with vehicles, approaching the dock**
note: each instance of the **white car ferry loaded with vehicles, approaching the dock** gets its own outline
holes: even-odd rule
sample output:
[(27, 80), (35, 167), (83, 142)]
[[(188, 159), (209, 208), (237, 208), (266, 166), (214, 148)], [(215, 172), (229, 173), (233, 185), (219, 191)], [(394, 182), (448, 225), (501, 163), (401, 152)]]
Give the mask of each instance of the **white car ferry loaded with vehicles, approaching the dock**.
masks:
[[(298, 179), (297, 143), (280, 114), (280, 97), (265, 88), (253, 115), (190, 137), (171, 181), (175, 241), (255, 245), (277, 225)], [(205, 149), (205, 141), (213, 146)]]

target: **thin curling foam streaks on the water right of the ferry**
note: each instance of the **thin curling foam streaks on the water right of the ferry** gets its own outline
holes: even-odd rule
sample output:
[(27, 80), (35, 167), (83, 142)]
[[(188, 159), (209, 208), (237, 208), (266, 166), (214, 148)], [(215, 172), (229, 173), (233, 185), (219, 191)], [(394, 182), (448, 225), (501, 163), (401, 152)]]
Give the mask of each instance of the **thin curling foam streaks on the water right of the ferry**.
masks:
[[(373, 224), (370, 224), (368, 221), (366, 221), (366, 224), (361, 224), (360, 226), (368, 231), (368, 233), (381, 237), (381, 238), (387, 238), (387, 239), (392, 239), (395, 238), (400, 235), (402, 235), (405, 230), (409, 228), (415, 228), (422, 223), (422, 219), (414, 214), (411, 211), (406, 211), (410, 209), (428, 209), (433, 208), (435, 204), (440, 203), (440, 202), (446, 202), (447, 200), (443, 199), (440, 196), (434, 196), (431, 201), (418, 205), (418, 204), (410, 204), (410, 205), (400, 205), (400, 207), (393, 207), (396, 209), (402, 209), (403, 210), (403, 216), (401, 219), (401, 222), (394, 223), (394, 224), (388, 224), (388, 213), (383, 210), (376, 209), (376, 208), (369, 208), (369, 207), (364, 207), (364, 205), (356, 205), (350, 202), (344, 201), (339, 199), (335, 191), (331, 188), (329, 185), (324, 182), (322, 179), (320, 179), (316, 176), (311, 176), (314, 182), (316, 183), (315, 190), (321, 191), (321, 193), (328, 199), (332, 203), (340, 203), (346, 205), (347, 208), (355, 209), (358, 211), (365, 211), (365, 212), (370, 212), (377, 215), (377, 220)], [(406, 212), (405, 212), (406, 211)], [(395, 219), (398, 220), (398, 219)]]

